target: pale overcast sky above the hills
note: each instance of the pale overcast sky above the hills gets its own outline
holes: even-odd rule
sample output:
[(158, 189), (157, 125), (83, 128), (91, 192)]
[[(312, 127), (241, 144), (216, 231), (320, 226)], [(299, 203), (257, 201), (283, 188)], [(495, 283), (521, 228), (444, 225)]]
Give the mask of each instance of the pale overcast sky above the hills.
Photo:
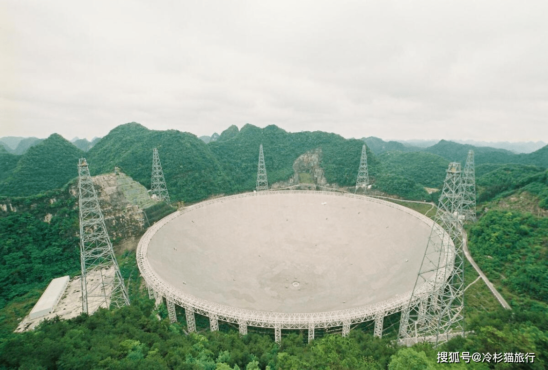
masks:
[(0, 137), (548, 142), (548, 2), (0, 1)]

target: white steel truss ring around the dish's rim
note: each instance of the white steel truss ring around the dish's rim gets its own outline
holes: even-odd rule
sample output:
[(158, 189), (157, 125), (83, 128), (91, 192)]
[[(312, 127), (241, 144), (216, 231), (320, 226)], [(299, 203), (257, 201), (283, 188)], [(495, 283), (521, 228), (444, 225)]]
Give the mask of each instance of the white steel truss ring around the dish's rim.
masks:
[[(450, 259), (450, 256), (452, 256), (452, 251), (454, 248), (452, 243), (450, 243), (449, 236), (444, 232), (444, 230), (441, 227), (437, 226), (432, 221), (432, 219), (421, 215), (418, 212), (410, 210), (407, 207), (403, 207), (395, 203), (390, 203), (380, 199), (369, 198), (362, 195), (355, 195), (350, 193), (317, 192), (306, 190), (282, 191), (285, 193), (299, 194), (338, 194), (340, 196), (347, 196), (356, 199), (367, 199), (368, 201), (373, 201), (375, 203), (380, 203), (386, 206), (396, 208), (403, 212), (409, 213), (410, 215), (413, 215), (414, 217), (420, 219), (427, 225), (432, 226), (432, 229), (435, 233), (439, 235), (439, 238), (447, 240), (447, 242), (443, 244), (443, 248), (445, 248), (445, 255), (448, 256), (448, 259)], [(280, 333), (279, 330), (281, 329), (309, 329), (309, 340), (312, 340), (314, 337), (315, 328), (343, 327), (344, 334), (347, 334), (349, 333), (350, 326), (353, 323), (375, 320), (375, 334), (381, 336), (383, 321), (382, 318), (384, 318), (384, 316), (401, 311), (404, 307), (407, 307), (410, 300), (414, 304), (417, 304), (420, 300), (420, 297), (430, 294), (431, 288), (438, 285), (435, 281), (432, 281), (432, 279), (434, 278), (432, 277), (432, 279), (426, 279), (424, 281), (424, 284), (416, 286), (416, 293), (414, 297), (412, 297), (412, 291), (409, 291), (405, 294), (399, 294), (399, 296), (384, 300), (383, 302), (378, 302), (363, 307), (315, 313), (277, 313), (230, 307), (227, 305), (210, 302), (209, 300), (198, 298), (196, 296), (192, 296), (191, 294), (185, 293), (179, 290), (179, 288), (174, 287), (168, 281), (163, 280), (152, 269), (147, 259), (147, 248), (149, 246), (150, 240), (152, 239), (152, 236), (165, 224), (179, 217), (182, 213), (192, 211), (197, 207), (204, 207), (210, 204), (222, 202), (224, 200), (229, 200), (233, 198), (243, 198), (247, 196), (268, 196), (268, 194), (269, 193), (267, 192), (245, 193), (204, 201), (202, 203), (192, 206), (189, 209), (182, 209), (177, 212), (171, 213), (170, 215), (153, 224), (142, 236), (136, 252), (137, 263), (139, 266), (139, 270), (141, 271), (141, 275), (142, 277), (144, 277), (147, 286), (149, 286), (155, 292), (155, 295), (157, 294), (159, 296), (165, 297), (166, 300), (171, 300), (176, 305), (185, 308), (185, 311), (187, 313), (187, 323), (189, 323), (189, 331), (196, 330), (194, 320), (192, 320), (193, 315), (191, 315), (192, 318), (190, 318), (189, 315), (193, 312), (197, 312), (198, 314), (209, 317), (210, 320), (214, 317), (215, 320), (237, 323), (239, 326), (239, 331), (242, 335), (247, 334), (248, 326), (273, 328), (275, 329), (275, 335)], [(194, 325), (192, 329), (190, 327), (191, 322), (192, 325)], [(212, 329), (215, 329), (214, 326), (212, 326)]]

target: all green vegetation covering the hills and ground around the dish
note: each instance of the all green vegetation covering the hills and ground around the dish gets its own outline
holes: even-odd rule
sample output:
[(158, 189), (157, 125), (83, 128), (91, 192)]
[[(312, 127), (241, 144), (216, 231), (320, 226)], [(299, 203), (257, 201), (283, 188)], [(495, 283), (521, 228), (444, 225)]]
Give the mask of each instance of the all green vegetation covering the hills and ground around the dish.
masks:
[[(322, 149), (321, 166), (329, 183), (352, 187), (356, 182), (362, 141), (325, 132), (291, 134), (276, 126), (231, 126), (217, 141), (205, 144), (192, 134), (152, 131), (132, 123), (112, 130), (85, 157), (92, 174), (118, 166), (150, 187), (152, 148), (157, 147), (170, 197), (191, 202), (252, 190), (261, 143), (270, 183), (287, 181), (294, 160), (316, 148)], [(368, 151), (374, 189), (430, 200), (424, 187), (442, 186), (449, 161), (464, 164), (470, 148), (453, 144), (441, 142), (430, 153)], [(548, 209), (548, 147), (527, 155), (473, 148), (479, 219), (467, 226), (469, 247), (512, 310), (497, 308), (483, 282), (477, 281), (465, 293), (470, 303), (465, 329), (470, 333), (433, 349), (428, 344), (402, 348), (391, 342), (395, 336), (390, 334), (374, 338), (367, 325), (346, 338), (318, 330), (311, 344), (306, 344), (306, 333), (284, 331), (278, 345), (271, 331), (250, 330), (241, 337), (237, 326), (221, 323), (219, 332), (209, 332), (207, 319), (197, 316), (199, 333), (187, 335), (182, 310), (179, 323), (172, 324), (165, 306), (153, 307), (130, 252), (119, 255), (118, 261), (131, 307), (51, 320), (35, 331), (12, 333), (50, 279), (79, 271), (77, 200), (64, 185), (77, 176), (76, 163), (83, 153), (71, 145), (52, 135), (24, 155), (0, 147), (0, 194), (10, 195), (0, 198), (0, 369), (523, 368), (520, 363), (437, 363), (440, 351), (534, 352), (535, 362), (527, 368), (548, 366), (548, 218), (543, 217)], [(37, 171), (41, 167), (49, 171)], [(60, 189), (48, 190), (54, 188)], [(25, 194), (30, 196), (14, 197)], [(508, 201), (520, 197), (529, 202), (527, 207)], [(431, 205), (413, 207), (433, 215)], [(145, 213), (153, 222), (172, 210), (158, 203)], [(468, 269), (466, 284), (476, 277)], [(393, 331), (398, 317), (392, 316), (385, 328)]]

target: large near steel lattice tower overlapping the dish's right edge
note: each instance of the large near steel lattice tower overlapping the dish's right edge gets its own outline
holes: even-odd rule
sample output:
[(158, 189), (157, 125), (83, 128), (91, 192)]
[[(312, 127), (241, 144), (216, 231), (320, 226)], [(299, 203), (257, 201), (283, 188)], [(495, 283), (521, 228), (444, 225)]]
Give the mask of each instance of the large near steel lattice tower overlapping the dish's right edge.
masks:
[(435, 339), (437, 344), (440, 334), (463, 332), (462, 207), (460, 163), (450, 163), (434, 220), (443, 230), (432, 227), (412, 297), (402, 311), (400, 339)]

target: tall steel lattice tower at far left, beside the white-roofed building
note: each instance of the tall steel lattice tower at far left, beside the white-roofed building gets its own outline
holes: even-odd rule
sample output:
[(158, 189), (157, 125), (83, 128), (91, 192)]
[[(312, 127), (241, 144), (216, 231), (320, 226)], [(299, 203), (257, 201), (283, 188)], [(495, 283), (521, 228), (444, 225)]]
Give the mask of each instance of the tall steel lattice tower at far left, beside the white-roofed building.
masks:
[(128, 292), (114, 256), (85, 158), (78, 163), (78, 188), (82, 310), (91, 314), (99, 307), (129, 305)]

